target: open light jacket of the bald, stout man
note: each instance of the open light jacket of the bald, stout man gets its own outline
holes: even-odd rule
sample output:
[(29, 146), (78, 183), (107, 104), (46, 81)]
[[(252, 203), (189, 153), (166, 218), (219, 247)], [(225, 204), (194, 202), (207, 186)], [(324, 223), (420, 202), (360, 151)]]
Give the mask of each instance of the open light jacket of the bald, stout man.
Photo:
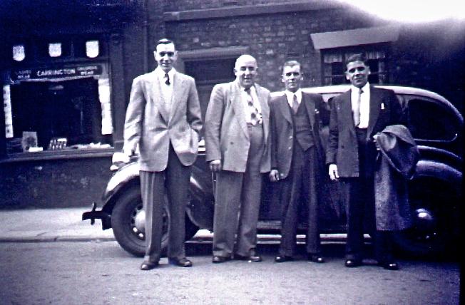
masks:
[[(255, 84), (262, 108), (265, 150), (260, 172), (270, 171), (270, 91)], [(250, 148), (242, 89), (236, 81), (213, 87), (205, 114), (206, 161), (220, 159), (223, 170), (245, 172)]]

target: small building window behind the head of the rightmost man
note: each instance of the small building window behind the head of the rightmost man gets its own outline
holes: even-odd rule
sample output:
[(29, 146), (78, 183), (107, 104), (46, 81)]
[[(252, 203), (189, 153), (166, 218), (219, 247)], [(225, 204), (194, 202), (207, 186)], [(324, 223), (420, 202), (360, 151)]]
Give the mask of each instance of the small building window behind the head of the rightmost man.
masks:
[(370, 68), (369, 83), (384, 84), (388, 81), (387, 52), (357, 48), (343, 48), (322, 51), (322, 71), (325, 85), (340, 85), (349, 83), (345, 78), (346, 58), (354, 53), (365, 53)]

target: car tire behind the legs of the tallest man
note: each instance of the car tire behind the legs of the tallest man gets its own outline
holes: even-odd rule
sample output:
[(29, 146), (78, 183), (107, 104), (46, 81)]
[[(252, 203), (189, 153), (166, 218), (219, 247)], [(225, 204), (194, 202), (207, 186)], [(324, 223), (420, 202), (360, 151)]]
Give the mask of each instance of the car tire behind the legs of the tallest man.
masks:
[[(143, 257), (145, 255), (145, 234), (136, 226), (136, 217), (143, 211), (140, 187), (134, 186), (125, 190), (116, 200), (111, 213), (111, 227), (116, 241), (127, 252)], [(161, 239), (162, 255), (168, 248), (168, 201), (163, 205), (163, 235)], [(185, 240), (197, 233), (198, 227), (185, 216)]]

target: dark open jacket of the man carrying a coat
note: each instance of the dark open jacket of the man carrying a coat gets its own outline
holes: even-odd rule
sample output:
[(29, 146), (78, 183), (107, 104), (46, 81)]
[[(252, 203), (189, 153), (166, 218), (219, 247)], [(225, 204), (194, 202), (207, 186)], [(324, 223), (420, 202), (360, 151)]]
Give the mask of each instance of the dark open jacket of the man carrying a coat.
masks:
[[(367, 160), (376, 159), (373, 135), (387, 125), (402, 124), (402, 108), (394, 91), (370, 86)], [(350, 90), (333, 99), (326, 163), (336, 164), (339, 177), (359, 177), (359, 153)], [(374, 164), (367, 168), (374, 169)]]

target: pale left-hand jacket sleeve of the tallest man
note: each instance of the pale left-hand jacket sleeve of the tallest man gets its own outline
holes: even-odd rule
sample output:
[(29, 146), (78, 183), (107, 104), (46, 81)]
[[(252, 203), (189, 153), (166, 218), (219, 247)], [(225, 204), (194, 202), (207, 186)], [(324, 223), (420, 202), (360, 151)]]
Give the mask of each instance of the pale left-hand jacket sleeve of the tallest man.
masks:
[(133, 81), (131, 95), (129, 95), (128, 108), (126, 109), (126, 119), (124, 123), (124, 145), (123, 151), (134, 152), (140, 140), (142, 132), (142, 120), (145, 109), (145, 95), (140, 77)]

